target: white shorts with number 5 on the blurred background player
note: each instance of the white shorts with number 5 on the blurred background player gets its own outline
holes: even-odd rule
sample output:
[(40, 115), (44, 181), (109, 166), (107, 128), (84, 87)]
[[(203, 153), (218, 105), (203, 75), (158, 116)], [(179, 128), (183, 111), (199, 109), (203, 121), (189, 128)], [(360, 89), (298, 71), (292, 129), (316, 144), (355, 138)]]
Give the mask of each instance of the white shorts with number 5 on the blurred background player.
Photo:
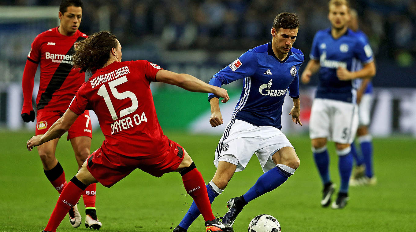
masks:
[(351, 144), (358, 128), (358, 106), (338, 100), (315, 98), (309, 120), (310, 138), (327, 138)]

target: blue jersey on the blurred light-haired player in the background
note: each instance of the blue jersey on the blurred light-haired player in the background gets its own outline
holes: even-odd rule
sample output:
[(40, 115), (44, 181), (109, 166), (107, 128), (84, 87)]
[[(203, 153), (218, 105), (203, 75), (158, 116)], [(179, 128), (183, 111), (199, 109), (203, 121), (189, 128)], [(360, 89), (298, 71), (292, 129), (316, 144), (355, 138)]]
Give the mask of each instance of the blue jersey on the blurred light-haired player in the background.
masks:
[(347, 29), (344, 35), (334, 39), (331, 29), (318, 31), (312, 42), (310, 58), (319, 60), (319, 84), (316, 98), (328, 98), (356, 103), (357, 90), (353, 81), (340, 81), (337, 77), (339, 66), (355, 71), (359, 63), (373, 61), (373, 53), (368, 43)]

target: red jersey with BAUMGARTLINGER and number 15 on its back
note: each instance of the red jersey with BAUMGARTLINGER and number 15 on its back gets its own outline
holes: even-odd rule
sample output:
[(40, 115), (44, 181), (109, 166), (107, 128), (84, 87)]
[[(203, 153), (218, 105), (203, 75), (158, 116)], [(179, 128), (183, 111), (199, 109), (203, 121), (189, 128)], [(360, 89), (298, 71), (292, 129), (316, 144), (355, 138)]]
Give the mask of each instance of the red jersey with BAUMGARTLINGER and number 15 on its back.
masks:
[(157, 156), (169, 146), (159, 125), (151, 81), (161, 67), (149, 61), (113, 62), (82, 84), (69, 109), (94, 110), (105, 136), (102, 148), (123, 156)]

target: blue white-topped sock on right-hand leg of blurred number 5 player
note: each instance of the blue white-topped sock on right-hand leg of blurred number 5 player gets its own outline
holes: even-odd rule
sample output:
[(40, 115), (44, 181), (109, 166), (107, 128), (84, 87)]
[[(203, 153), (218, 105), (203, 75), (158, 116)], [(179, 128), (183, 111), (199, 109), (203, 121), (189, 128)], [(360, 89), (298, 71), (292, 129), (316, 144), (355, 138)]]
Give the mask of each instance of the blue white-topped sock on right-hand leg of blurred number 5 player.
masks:
[(340, 193), (348, 193), (349, 177), (351, 176), (352, 163), (354, 162), (351, 154), (351, 149), (348, 147), (341, 151), (337, 151), (339, 156), (338, 169), (339, 176), (341, 176)]

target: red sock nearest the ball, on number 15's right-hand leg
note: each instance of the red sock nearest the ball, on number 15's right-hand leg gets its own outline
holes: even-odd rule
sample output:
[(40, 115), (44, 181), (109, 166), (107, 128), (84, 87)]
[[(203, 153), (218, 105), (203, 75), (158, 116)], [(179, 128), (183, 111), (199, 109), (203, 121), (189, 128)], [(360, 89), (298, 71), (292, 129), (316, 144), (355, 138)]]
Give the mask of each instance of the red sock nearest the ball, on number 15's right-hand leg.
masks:
[(204, 217), (204, 221), (212, 221), (215, 219), (211, 204), (209, 202), (207, 188), (205, 187), (204, 179), (198, 169), (192, 169), (182, 176), (183, 186), (186, 192), (191, 195), (199, 212)]

